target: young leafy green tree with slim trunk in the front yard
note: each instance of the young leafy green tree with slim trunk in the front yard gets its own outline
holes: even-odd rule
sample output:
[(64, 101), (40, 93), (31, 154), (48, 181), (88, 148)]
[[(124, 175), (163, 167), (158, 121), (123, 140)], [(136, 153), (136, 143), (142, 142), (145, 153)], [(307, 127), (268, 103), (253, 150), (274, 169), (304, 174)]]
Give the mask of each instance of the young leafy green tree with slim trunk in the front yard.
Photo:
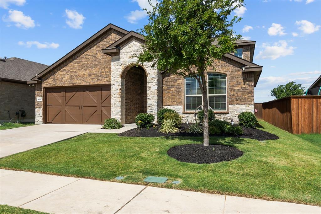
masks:
[[(150, 1), (150, 0), (149, 0)], [(152, 62), (159, 71), (194, 77), (202, 91), (204, 146), (208, 139), (208, 98), (205, 71), (225, 53), (234, 52), (233, 24), (240, 18), (231, 15), (243, 0), (162, 0), (148, 12), (149, 23), (141, 29), (145, 37), (138, 62)]]

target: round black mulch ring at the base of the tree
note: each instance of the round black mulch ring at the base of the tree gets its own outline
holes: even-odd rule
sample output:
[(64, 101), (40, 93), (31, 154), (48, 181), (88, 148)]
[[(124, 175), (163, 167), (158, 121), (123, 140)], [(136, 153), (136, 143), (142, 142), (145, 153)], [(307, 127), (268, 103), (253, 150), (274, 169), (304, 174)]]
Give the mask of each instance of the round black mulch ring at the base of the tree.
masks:
[(212, 164), (239, 158), (243, 152), (235, 147), (223, 145), (186, 144), (170, 148), (167, 154), (181, 162)]

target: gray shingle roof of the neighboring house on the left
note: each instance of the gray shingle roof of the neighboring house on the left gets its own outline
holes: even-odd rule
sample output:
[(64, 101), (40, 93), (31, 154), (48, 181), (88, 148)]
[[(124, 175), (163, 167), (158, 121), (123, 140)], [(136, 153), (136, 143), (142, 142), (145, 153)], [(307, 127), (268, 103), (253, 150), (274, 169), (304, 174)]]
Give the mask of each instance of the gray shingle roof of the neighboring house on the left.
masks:
[(29, 60), (11, 57), (0, 60), (0, 79), (27, 83), (48, 66)]

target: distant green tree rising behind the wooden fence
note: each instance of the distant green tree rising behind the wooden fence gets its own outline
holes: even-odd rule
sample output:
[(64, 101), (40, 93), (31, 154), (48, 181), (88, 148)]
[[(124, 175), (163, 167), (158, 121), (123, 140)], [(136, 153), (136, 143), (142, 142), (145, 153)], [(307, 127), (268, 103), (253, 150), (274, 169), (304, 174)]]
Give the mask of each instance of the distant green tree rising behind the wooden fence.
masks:
[(295, 82), (289, 82), (285, 85), (278, 85), (271, 90), (271, 96), (275, 97), (274, 100), (278, 100), (284, 97), (289, 97), (291, 95), (303, 95), (304, 87), (302, 84), (295, 84)]

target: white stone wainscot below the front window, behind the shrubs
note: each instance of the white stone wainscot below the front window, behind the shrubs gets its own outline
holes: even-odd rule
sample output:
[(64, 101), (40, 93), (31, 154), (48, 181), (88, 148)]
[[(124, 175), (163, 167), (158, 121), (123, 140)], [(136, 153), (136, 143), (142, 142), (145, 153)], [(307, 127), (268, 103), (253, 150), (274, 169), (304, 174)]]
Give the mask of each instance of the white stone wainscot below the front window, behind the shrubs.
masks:
[[(194, 112), (183, 113), (182, 105), (164, 105), (163, 108), (169, 108), (177, 111), (182, 116), (183, 122), (186, 122), (187, 120), (189, 122), (195, 121)], [(227, 120), (227, 121), (231, 121), (233, 119), (235, 123), (238, 123), (239, 122), (238, 115), (243, 111), (249, 111), (254, 113), (254, 104), (229, 105), (229, 113), (215, 113), (215, 116), (216, 116), (216, 119)]]

